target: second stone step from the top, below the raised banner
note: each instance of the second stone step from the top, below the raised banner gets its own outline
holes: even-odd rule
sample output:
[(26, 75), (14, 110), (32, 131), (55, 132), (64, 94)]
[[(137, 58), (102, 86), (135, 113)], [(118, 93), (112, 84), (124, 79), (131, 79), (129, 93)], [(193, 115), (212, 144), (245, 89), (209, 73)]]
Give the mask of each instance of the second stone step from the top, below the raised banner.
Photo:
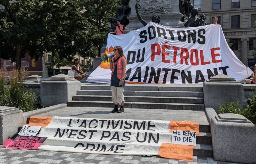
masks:
[[(77, 95), (111, 96), (111, 90), (80, 90)], [(124, 96), (156, 96), (156, 97), (203, 97), (203, 92), (192, 91), (124, 91)]]

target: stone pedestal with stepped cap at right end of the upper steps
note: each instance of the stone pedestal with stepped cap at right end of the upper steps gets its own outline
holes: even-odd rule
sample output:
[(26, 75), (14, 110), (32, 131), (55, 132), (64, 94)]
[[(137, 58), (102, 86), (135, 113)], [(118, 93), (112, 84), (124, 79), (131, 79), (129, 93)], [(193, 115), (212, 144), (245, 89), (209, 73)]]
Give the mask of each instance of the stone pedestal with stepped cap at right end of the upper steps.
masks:
[(217, 113), (225, 102), (238, 101), (239, 107), (243, 105), (243, 85), (227, 75), (219, 74), (205, 81), (203, 92), (205, 108), (211, 107)]

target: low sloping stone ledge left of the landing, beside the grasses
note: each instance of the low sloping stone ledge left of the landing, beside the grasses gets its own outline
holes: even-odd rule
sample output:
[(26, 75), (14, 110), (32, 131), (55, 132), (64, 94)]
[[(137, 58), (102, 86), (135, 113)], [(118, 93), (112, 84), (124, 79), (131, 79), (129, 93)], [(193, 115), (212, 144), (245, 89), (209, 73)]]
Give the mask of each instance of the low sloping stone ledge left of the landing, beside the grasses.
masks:
[(42, 113), (47, 113), (47, 112), (57, 110), (57, 109), (61, 109), (61, 108), (65, 108), (65, 107), (67, 107), (67, 104), (58, 104), (58, 105), (53, 105), (53, 106), (49, 106), (49, 107), (46, 107), (46, 108), (41, 108), (41, 109), (25, 112), (25, 113), (23, 113), (23, 124), (27, 123), (27, 119), (30, 116), (34, 116), (34, 115), (38, 115), (38, 114), (42, 114)]

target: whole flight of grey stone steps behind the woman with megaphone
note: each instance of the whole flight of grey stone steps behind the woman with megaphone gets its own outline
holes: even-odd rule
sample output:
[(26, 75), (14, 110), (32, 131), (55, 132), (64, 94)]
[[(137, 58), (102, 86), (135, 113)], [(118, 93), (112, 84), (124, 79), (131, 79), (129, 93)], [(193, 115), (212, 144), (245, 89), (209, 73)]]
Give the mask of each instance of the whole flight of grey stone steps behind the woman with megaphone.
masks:
[[(204, 110), (201, 86), (127, 85), (124, 108)], [(109, 85), (84, 85), (68, 106), (113, 107)]]

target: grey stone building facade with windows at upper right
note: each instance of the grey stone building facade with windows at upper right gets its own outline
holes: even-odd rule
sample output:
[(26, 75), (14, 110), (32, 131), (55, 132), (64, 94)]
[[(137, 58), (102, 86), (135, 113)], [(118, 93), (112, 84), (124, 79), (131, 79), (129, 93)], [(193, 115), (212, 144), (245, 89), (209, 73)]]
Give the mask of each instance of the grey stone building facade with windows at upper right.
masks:
[[(244, 65), (256, 64), (253, 53), (256, 48), (256, 0), (191, 0), (200, 16), (205, 14), (206, 23), (218, 18), (226, 40)], [(255, 50), (256, 51), (256, 50)]]

